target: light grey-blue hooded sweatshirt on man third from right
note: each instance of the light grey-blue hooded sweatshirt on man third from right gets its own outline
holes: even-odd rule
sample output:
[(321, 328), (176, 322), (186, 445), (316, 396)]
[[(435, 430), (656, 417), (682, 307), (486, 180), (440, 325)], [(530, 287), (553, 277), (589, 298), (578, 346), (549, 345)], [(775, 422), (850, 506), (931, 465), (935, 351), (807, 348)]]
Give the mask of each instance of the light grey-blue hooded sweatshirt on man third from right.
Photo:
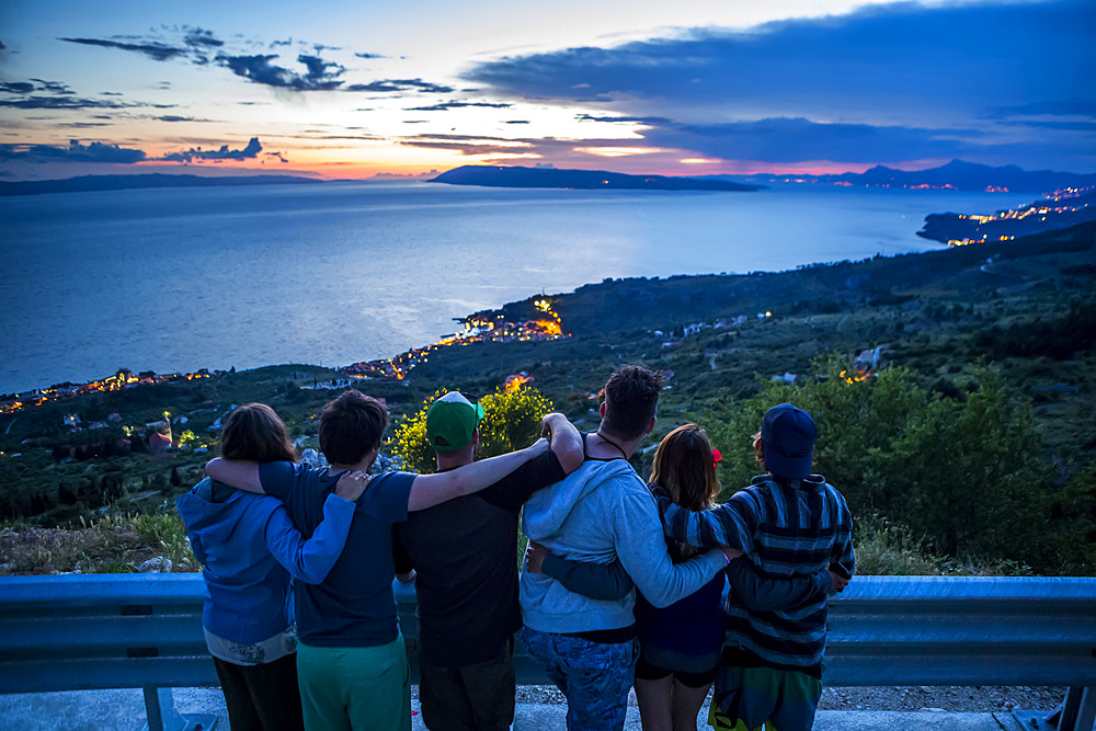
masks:
[[(586, 460), (525, 503), (525, 535), (568, 559), (619, 559), (647, 601), (664, 607), (704, 586), (727, 559), (718, 550), (674, 564), (654, 496), (627, 461)], [(590, 632), (635, 624), (636, 592), (619, 601), (569, 592), (544, 573), (522, 573), (525, 625), (541, 632)]]

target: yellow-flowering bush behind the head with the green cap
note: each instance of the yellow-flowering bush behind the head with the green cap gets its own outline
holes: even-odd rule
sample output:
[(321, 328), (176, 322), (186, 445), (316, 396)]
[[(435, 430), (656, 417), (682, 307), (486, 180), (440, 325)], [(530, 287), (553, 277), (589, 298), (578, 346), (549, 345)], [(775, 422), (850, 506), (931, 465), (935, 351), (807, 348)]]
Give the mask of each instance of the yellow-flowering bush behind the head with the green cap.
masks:
[[(388, 448), (399, 457), (403, 469), (423, 475), (434, 471), (434, 449), (426, 438), (426, 411), (447, 391), (436, 391), (414, 413), (397, 422)], [(513, 391), (499, 389), (480, 399), (480, 444), (477, 457), (494, 457), (527, 447), (540, 436), (540, 420), (552, 410), (551, 401), (535, 388), (523, 386)]]

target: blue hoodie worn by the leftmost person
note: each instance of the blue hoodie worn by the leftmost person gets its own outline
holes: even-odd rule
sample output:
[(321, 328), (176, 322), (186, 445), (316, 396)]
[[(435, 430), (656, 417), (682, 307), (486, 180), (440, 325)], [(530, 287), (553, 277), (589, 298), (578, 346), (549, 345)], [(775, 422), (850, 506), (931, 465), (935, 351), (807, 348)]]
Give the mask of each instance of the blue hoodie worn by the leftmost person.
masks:
[(175, 501), (191, 549), (202, 563), (202, 625), (217, 637), (253, 644), (294, 621), (289, 576), (327, 578), (339, 560), (354, 503), (334, 493), (306, 540), (276, 498), (232, 490), (206, 478)]

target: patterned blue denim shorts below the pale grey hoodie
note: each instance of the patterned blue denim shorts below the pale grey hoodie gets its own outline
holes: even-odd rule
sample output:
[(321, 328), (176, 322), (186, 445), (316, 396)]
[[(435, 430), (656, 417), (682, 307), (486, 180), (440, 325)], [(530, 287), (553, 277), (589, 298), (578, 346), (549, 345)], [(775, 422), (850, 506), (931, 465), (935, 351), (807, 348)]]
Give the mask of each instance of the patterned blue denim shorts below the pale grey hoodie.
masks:
[(624, 728), (639, 642), (591, 642), (529, 627), (522, 630), (522, 642), (567, 696), (568, 731)]

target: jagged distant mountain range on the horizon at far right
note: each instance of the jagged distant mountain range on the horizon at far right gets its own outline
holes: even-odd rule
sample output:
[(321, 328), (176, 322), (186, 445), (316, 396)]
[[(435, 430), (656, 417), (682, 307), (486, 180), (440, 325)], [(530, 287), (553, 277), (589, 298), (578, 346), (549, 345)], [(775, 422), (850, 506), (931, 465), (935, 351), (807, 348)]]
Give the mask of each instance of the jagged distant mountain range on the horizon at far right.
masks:
[(1016, 165), (992, 168), (963, 160), (952, 160), (939, 168), (927, 170), (905, 171), (876, 165), (863, 173), (847, 172), (840, 175), (757, 173), (755, 175), (720, 175), (719, 178), (760, 183), (802, 182), (883, 187), (950, 187), (959, 191), (1000, 190), (1008, 193), (1051, 193), (1066, 187), (1081, 189), (1096, 185), (1096, 173), (1028, 171)]

